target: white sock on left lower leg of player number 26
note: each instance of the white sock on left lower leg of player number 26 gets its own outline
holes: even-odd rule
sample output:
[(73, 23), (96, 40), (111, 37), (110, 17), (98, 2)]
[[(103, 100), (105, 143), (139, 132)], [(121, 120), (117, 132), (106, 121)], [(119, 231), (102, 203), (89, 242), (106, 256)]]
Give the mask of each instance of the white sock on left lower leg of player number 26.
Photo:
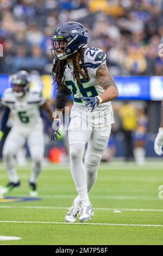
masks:
[(84, 149), (85, 145), (82, 143), (70, 145), (71, 174), (82, 205), (90, 205), (83, 164)]

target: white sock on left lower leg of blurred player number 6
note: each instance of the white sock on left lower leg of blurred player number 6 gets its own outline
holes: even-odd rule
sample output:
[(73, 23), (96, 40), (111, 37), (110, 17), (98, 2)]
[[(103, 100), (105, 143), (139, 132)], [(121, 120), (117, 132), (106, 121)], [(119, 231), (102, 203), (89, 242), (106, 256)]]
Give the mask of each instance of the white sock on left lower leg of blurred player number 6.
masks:
[(17, 183), (19, 181), (15, 168), (15, 159), (11, 155), (4, 156), (5, 167), (7, 168), (10, 182)]

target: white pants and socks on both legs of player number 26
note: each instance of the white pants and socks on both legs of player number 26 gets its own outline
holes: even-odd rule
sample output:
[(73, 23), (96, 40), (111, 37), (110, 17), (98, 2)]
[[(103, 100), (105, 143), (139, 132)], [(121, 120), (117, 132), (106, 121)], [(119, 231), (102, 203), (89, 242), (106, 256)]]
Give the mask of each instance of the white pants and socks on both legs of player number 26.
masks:
[[(82, 122), (86, 122), (82, 120)], [(94, 130), (85, 124), (87, 129), (81, 130), (81, 119), (73, 117), (68, 130), (68, 140), (70, 144), (70, 164), (71, 174), (76, 185), (79, 197), (77, 204), (90, 204), (88, 193), (95, 184), (97, 169), (101, 161), (102, 154), (108, 144), (111, 132), (111, 125), (100, 130)], [(87, 150), (83, 164), (83, 154), (85, 144)]]

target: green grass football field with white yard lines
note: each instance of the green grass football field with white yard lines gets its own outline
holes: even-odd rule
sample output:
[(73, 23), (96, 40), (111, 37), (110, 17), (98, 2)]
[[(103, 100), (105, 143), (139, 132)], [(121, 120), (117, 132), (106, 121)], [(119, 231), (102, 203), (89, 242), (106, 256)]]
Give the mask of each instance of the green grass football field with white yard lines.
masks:
[[(18, 168), (21, 187), (7, 196), (29, 197), (31, 165)], [(0, 185), (8, 182), (0, 164)], [(162, 245), (163, 164), (147, 162), (101, 164), (90, 199), (95, 215), (90, 222), (65, 223), (64, 217), (76, 197), (69, 164), (48, 164), (38, 182), (41, 200), (0, 202), (0, 236), (21, 240), (0, 245)], [(163, 193), (162, 193), (163, 195)]]

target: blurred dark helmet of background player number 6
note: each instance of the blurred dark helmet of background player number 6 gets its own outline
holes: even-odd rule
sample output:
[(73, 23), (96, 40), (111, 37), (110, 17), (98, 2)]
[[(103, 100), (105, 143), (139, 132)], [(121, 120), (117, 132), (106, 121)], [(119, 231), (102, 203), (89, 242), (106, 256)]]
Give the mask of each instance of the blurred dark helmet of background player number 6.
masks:
[(27, 71), (21, 70), (11, 76), (11, 86), (17, 97), (22, 97), (29, 90), (30, 74)]

